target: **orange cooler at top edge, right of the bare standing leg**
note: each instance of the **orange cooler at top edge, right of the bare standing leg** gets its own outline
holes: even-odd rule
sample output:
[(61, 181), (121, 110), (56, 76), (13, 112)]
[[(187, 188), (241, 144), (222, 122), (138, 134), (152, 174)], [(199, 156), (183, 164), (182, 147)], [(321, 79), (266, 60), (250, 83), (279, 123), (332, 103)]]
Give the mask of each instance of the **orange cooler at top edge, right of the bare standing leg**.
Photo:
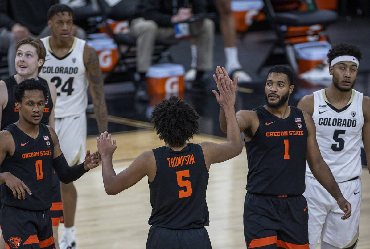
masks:
[(232, 0), (231, 11), (234, 16), (236, 30), (246, 31), (262, 8), (262, 0)]

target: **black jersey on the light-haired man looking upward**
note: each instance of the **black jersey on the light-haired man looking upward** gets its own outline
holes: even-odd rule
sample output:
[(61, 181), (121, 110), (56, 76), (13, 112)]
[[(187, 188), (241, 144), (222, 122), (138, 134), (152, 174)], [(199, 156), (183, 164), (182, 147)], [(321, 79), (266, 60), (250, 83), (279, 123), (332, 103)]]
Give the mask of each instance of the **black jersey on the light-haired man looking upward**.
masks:
[[(44, 86), (47, 87), (48, 96), (45, 102), (44, 114), (41, 119), (41, 123), (48, 125), (49, 117), (51, 110), (53, 110), (53, 100), (51, 100), (50, 89), (46, 80), (41, 77), (38, 77), (38, 81), (41, 82)], [(4, 80), (6, 88), (8, 90), (8, 103), (3, 109), (3, 114), (1, 115), (1, 127), (0, 130), (3, 130), (8, 125), (11, 125), (19, 120), (19, 110), (16, 108), (16, 102), (14, 101), (13, 89), (17, 85), (14, 75), (6, 78)]]

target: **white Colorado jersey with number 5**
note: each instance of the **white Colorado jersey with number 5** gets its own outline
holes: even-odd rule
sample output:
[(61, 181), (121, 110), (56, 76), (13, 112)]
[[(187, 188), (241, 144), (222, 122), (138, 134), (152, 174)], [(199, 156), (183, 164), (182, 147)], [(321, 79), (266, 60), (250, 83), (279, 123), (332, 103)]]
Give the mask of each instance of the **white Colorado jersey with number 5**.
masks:
[[(364, 117), (363, 94), (352, 89), (348, 104), (338, 110), (326, 98), (325, 89), (313, 93), (312, 118), (320, 152), (336, 182), (361, 175), (361, 141)], [(314, 177), (306, 165), (306, 175)]]

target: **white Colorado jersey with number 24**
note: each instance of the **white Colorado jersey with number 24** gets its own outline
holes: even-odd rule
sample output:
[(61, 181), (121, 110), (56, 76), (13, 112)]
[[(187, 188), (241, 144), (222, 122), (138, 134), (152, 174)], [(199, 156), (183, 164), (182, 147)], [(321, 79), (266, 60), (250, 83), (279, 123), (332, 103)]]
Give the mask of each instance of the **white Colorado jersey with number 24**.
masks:
[(88, 80), (84, 64), (85, 41), (74, 37), (73, 45), (64, 57), (51, 51), (50, 36), (41, 39), (46, 47), (45, 63), (39, 75), (57, 88), (55, 118), (74, 116), (87, 108)]

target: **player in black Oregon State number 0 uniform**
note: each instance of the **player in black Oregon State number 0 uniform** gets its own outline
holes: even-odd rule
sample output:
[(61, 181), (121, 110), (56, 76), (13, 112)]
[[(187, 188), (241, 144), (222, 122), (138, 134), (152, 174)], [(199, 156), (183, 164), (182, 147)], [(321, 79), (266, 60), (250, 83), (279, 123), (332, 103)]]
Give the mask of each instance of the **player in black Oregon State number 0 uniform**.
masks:
[[(50, 218), (53, 170), (63, 182), (98, 166), (87, 151), (85, 162), (69, 167), (53, 128), (40, 124), (47, 87), (27, 79), (14, 87), (19, 120), (0, 132), (0, 225), (7, 248), (54, 248)], [(26, 190), (26, 191), (25, 191)], [(26, 193), (27, 192), (27, 193)]]

